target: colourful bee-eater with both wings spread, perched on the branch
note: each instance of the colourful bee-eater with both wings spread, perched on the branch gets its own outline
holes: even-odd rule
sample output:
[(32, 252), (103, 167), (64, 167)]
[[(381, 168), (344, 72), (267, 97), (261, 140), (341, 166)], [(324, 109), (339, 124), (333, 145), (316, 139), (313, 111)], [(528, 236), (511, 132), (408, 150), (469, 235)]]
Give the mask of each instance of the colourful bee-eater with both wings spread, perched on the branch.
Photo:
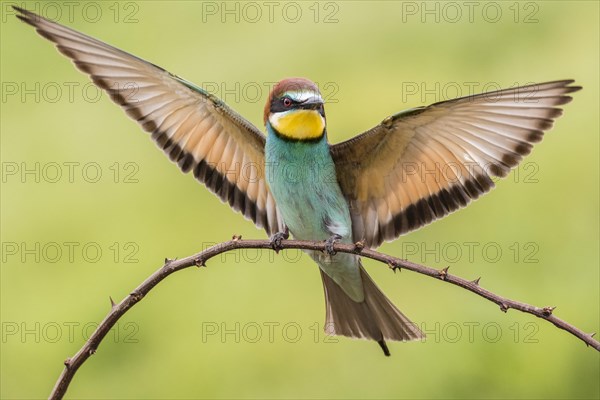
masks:
[[(265, 133), (215, 95), (71, 28), (13, 6), (148, 132), (182, 172), (191, 172), (263, 228), (274, 248), (289, 235), (325, 241), (307, 251), (319, 267), (329, 334), (375, 341), (424, 333), (377, 287), (358, 254), (479, 198), (515, 168), (581, 89), (565, 79), (420, 106), (330, 144), (324, 99), (306, 78), (273, 86)], [(135, 90), (130, 91), (134, 85)]]

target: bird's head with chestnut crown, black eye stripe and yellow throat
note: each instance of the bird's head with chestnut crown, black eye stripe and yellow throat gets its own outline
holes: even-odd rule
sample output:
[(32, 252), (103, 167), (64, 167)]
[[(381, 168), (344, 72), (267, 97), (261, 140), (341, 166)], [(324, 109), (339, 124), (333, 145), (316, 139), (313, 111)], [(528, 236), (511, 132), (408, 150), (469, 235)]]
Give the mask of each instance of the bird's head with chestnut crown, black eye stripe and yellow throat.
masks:
[(314, 82), (288, 78), (271, 90), (265, 105), (265, 125), (294, 141), (314, 141), (325, 134), (323, 98)]

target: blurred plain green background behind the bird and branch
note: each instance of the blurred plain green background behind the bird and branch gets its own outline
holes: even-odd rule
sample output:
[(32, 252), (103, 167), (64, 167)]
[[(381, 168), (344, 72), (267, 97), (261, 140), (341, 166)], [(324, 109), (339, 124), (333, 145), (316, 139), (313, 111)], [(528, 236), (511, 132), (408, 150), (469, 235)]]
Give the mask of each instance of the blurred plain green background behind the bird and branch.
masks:
[[(181, 174), (106, 95), (97, 98), (86, 76), (13, 16), (13, 3), (0, 3), (0, 395), (24, 399), (49, 394), (109, 296), (122, 299), (164, 257), (265, 234)], [(559, 317), (600, 329), (598, 2), (18, 4), (214, 91), (261, 128), (270, 82), (309, 77), (329, 101), (331, 142), (470, 88), (576, 79), (584, 90), (517, 173), (381, 250), (482, 276), (498, 294), (556, 305)], [(393, 343), (385, 358), (373, 343), (325, 338), (308, 257), (241, 252), (161, 283), (68, 396), (600, 396), (598, 353), (551, 324), (437, 280), (366, 267), (426, 342)]]

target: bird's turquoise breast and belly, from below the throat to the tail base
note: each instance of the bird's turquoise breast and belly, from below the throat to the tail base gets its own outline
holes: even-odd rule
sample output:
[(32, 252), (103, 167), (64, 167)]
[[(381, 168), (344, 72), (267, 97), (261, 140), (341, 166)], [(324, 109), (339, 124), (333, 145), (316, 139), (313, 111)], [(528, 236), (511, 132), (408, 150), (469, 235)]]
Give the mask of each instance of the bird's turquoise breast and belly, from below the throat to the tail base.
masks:
[[(267, 133), (267, 183), (292, 235), (301, 240), (326, 240), (337, 234), (342, 242), (351, 243), (350, 210), (326, 136), (318, 141), (290, 141), (273, 132), (269, 124)], [(307, 253), (353, 300), (364, 299), (356, 255)]]

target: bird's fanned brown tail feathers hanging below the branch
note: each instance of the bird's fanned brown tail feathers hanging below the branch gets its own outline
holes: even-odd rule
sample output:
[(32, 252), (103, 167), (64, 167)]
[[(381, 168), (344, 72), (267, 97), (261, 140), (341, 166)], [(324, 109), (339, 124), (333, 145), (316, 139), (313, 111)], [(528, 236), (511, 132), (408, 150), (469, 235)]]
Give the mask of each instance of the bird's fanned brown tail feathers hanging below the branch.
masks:
[(325, 288), (327, 311), (325, 331), (328, 334), (375, 340), (386, 356), (390, 355), (385, 340), (419, 340), (425, 337), (379, 290), (360, 267), (365, 300), (357, 303), (320, 268)]

